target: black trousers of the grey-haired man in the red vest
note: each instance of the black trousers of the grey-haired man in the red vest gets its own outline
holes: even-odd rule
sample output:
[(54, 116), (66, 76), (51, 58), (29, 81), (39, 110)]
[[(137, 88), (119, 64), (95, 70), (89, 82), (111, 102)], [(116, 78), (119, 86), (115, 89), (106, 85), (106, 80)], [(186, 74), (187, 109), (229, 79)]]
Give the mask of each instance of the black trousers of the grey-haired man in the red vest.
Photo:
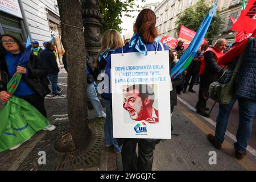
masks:
[(209, 90), (210, 84), (201, 81), (199, 86), (199, 94), (198, 94), (198, 102), (196, 104), (197, 110), (205, 110), (205, 107), (207, 106), (206, 101), (209, 98), (208, 90)]

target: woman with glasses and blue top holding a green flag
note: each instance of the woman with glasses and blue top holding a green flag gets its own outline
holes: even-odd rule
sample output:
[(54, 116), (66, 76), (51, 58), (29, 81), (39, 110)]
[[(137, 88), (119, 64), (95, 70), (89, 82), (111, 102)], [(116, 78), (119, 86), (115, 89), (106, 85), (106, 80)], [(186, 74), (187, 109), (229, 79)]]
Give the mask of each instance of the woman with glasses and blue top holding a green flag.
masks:
[(7, 34), (2, 35), (0, 40), (0, 100), (9, 100), (11, 96), (7, 94), (7, 83), (16, 72), (21, 73), (22, 80), (14, 96), (27, 101), (47, 118), (44, 97), (51, 90), (46, 84), (46, 67), (38, 56), (32, 53), (26, 67), (17, 65), (25, 50), (22, 42)]

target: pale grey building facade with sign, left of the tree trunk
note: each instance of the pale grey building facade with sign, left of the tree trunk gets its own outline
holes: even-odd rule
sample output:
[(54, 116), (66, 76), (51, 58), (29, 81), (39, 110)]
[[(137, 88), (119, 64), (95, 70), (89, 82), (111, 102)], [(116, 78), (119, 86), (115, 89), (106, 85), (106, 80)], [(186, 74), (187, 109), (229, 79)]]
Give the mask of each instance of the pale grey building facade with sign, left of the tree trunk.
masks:
[(0, 3), (0, 34), (11, 34), (26, 42), (27, 35), (39, 46), (51, 39), (62, 63), (60, 15), (56, 0), (2, 0)]

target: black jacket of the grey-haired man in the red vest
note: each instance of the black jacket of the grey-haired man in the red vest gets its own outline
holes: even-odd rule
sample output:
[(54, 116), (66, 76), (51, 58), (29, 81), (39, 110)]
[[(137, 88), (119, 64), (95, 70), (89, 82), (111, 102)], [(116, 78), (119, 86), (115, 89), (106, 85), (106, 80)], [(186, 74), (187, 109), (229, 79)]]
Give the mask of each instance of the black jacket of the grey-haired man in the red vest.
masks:
[(211, 84), (217, 81), (218, 78), (224, 72), (220, 65), (217, 64), (216, 58), (212, 51), (207, 51), (204, 53), (205, 69), (203, 75), (201, 75), (201, 81)]

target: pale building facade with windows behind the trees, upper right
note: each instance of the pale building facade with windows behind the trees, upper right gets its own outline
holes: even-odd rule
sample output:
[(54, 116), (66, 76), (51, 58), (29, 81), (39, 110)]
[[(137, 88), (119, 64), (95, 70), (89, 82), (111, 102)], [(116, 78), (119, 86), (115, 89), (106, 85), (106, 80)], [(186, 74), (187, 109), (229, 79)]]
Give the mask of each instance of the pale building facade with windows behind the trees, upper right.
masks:
[[(213, 0), (205, 0), (209, 6), (213, 5)], [(194, 6), (199, 0), (164, 0), (154, 10), (156, 14), (156, 27), (158, 28), (159, 35), (170, 35), (173, 38), (177, 38), (176, 32), (176, 20), (177, 15), (182, 13), (188, 7)], [(245, 1), (246, 3), (248, 2)], [(219, 0), (217, 9), (218, 15), (224, 21), (223, 28), (220, 30), (218, 36), (214, 39), (225, 38), (228, 40), (228, 44), (234, 42), (236, 31), (230, 31), (232, 22), (229, 16), (238, 18), (241, 13), (242, 0)], [(214, 43), (213, 40), (213, 43)]]

